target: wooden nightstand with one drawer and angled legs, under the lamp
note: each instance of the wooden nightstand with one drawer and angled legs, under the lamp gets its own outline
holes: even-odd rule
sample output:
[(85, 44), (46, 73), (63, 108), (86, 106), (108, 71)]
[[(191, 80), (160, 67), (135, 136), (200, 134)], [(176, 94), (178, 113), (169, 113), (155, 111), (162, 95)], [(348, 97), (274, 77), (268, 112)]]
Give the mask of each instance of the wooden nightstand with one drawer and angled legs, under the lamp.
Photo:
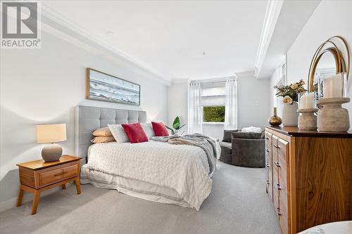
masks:
[(61, 156), (55, 162), (35, 160), (17, 164), (20, 172), (20, 192), (18, 193), (17, 207), (22, 204), (25, 191), (34, 194), (31, 214), (37, 213), (40, 193), (44, 190), (62, 186), (75, 181), (77, 194), (81, 193), (80, 186), (80, 157), (70, 155)]

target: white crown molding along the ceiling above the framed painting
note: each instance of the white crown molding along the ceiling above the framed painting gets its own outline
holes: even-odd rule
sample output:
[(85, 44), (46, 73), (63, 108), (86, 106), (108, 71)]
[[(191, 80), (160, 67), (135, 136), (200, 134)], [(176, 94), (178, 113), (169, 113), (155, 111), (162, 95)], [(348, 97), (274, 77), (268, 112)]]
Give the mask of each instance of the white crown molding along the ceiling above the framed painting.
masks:
[(165, 79), (165, 77), (167, 76), (157, 72), (156, 70), (149, 67), (145, 63), (137, 60), (136, 58), (133, 58), (128, 53), (125, 53), (124, 51), (121, 51), (120, 49), (115, 48), (115, 46), (109, 44), (104, 39), (101, 39), (98, 35), (90, 33), (89, 30), (87, 30), (86, 28), (75, 24), (73, 20), (66, 18), (61, 13), (58, 13), (58, 11), (55, 11), (54, 9), (47, 6), (44, 2), (42, 2), (42, 16), (55, 22), (59, 26), (64, 27), (65, 29), (68, 30), (68, 32), (63, 32), (63, 30), (61, 30), (60, 27), (57, 27), (58, 25), (49, 25), (49, 27), (54, 27), (56, 30), (59, 30), (65, 34), (68, 34), (68, 36), (70, 37), (75, 38), (76, 35), (79, 35), (80, 37), (83, 37), (84, 39), (87, 39), (88, 41), (96, 45), (106, 48), (106, 50), (111, 51), (111, 53), (113, 53), (115, 56), (118, 56), (123, 60), (127, 60), (132, 65), (139, 67), (145, 72), (148, 72), (153, 76), (153, 78), (157, 79), (163, 84), (166, 84), (168, 86), (172, 84), (168, 79)]

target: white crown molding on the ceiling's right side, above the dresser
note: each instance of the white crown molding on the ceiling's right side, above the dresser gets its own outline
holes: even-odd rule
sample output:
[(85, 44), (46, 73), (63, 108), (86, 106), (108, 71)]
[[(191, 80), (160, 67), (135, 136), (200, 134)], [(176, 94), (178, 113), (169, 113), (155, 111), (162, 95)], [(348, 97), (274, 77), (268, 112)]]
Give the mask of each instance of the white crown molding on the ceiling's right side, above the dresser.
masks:
[(269, 0), (265, 12), (264, 24), (260, 35), (256, 63), (254, 64), (254, 76), (258, 77), (260, 69), (263, 65), (266, 53), (268, 52), (269, 44), (274, 33), (277, 19), (281, 12), (283, 0)]

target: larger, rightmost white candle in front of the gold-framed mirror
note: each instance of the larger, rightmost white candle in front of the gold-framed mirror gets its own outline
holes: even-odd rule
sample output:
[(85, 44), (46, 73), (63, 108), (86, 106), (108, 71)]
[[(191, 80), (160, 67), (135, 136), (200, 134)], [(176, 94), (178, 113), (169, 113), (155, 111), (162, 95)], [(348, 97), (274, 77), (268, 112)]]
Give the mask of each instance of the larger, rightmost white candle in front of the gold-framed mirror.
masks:
[(327, 77), (322, 84), (322, 96), (323, 98), (341, 98), (342, 97), (342, 86), (343, 79), (342, 75), (335, 74), (331, 77)]

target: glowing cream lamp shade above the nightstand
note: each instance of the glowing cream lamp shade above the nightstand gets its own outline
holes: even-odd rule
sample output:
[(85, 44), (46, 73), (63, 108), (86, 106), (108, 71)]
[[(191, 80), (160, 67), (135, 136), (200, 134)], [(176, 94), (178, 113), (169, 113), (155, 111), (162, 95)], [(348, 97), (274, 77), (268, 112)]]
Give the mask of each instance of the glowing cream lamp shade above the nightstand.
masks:
[(54, 143), (66, 140), (66, 124), (37, 125), (37, 143)]

